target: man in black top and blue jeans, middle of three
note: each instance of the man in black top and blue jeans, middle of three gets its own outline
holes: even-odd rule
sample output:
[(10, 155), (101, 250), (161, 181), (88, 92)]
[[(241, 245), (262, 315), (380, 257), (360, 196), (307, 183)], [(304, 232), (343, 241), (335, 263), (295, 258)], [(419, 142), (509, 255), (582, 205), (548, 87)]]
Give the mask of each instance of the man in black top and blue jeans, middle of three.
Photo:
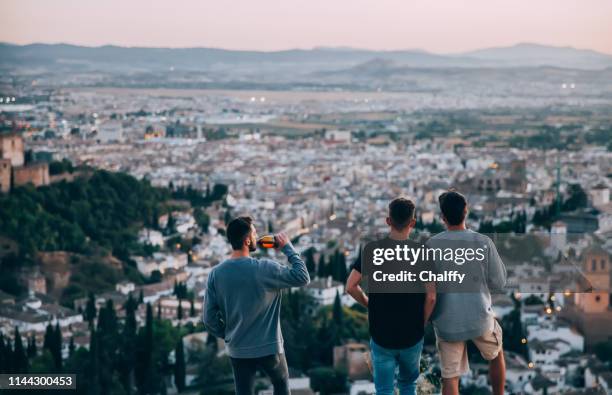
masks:
[[(378, 246), (406, 245), (419, 248), (408, 240), (414, 228), (415, 206), (406, 198), (394, 199), (389, 204), (387, 225), (390, 232)], [(422, 270), (422, 267), (415, 268)], [(361, 257), (353, 264), (346, 291), (361, 305), (368, 308), (370, 347), (377, 395), (391, 395), (397, 387), (400, 395), (414, 395), (423, 348), (424, 329), (435, 305), (433, 284), (423, 284), (421, 292), (395, 292), (365, 294), (360, 286)], [(396, 368), (399, 374), (396, 377)]]

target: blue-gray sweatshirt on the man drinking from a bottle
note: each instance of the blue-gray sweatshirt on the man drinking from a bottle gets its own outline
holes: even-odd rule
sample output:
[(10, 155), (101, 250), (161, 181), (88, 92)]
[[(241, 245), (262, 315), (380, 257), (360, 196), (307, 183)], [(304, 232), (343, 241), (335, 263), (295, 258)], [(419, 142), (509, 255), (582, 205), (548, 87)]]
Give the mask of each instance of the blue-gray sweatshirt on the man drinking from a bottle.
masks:
[(208, 276), (204, 325), (225, 339), (232, 358), (283, 353), (281, 290), (310, 282), (308, 270), (291, 243), (281, 250), (290, 267), (270, 259), (227, 259)]

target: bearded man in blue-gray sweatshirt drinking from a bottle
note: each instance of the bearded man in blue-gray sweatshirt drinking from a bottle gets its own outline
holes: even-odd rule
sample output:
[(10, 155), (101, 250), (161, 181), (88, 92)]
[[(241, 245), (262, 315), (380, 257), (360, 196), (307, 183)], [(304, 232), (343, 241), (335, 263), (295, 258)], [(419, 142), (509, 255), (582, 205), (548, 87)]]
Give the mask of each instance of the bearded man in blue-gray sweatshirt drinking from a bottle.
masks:
[(226, 232), (233, 251), (208, 276), (204, 324), (211, 334), (225, 339), (237, 395), (253, 394), (258, 369), (270, 377), (274, 395), (289, 394), (279, 319), (281, 290), (307, 285), (308, 270), (283, 233), (276, 236), (278, 248), (290, 266), (251, 258), (257, 231), (250, 217), (233, 219)]

